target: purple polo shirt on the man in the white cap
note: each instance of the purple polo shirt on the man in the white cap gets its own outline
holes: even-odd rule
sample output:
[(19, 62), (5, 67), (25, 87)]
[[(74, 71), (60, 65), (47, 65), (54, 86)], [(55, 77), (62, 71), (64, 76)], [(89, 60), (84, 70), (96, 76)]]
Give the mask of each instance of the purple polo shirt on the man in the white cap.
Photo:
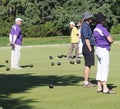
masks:
[(18, 24), (14, 24), (12, 27), (11, 27), (11, 30), (10, 30), (10, 34), (12, 35), (12, 39), (14, 37), (14, 35), (17, 36), (17, 39), (15, 41), (15, 44), (16, 45), (22, 45), (22, 31), (21, 31), (21, 27), (20, 25)]

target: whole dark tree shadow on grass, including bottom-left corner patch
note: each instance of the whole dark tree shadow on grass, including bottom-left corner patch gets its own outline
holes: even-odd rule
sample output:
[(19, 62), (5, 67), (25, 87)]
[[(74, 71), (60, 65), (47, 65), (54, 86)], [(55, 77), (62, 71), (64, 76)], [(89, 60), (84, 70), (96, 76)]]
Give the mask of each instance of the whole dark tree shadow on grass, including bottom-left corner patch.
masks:
[[(79, 76), (32, 76), (29, 74), (22, 75), (0, 75), (0, 106), (3, 109), (33, 109), (29, 106), (33, 100), (24, 100), (24, 98), (11, 98), (9, 95), (23, 93), (31, 88), (48, 86), (53, 82), (55, 86), (77, 85), (83, 81)], [(3, 96), (4, 95), (4, 96)]]

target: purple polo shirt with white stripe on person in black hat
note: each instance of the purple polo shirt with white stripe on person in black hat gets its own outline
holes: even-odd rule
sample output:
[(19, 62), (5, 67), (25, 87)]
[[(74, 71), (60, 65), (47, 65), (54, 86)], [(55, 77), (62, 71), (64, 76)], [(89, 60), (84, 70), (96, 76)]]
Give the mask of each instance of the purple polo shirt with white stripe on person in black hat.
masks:
[(110, 51), (110, 43), (107, 40), (107, 37), (110, 36), (110, 33), (108, 32), (107, 28), (102, 24), (97, 24), (93, 34), (95, 37), (95, 45), (101, 48), (106, 48)]

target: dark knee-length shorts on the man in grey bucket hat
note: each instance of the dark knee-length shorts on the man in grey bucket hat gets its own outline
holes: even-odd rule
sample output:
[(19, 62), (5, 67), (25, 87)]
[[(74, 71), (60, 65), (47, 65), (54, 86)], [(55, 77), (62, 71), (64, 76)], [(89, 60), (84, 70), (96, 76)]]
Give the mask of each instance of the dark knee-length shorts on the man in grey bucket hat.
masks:
[(86, 45), (83, 45), (83, 56), (85, 60), (85, 66), (91, 67), (95, 64), (94, 60), (94, 47), (92, 46), (92, 51), (90, 52)]

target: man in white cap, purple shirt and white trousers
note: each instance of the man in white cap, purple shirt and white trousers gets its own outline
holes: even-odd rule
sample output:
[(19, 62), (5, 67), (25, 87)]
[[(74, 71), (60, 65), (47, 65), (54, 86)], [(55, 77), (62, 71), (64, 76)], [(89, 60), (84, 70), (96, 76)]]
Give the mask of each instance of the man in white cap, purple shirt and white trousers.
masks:
[(11, 68), (12, 69), (20, 69), (19, 61), (20, 61), (20, 52), (22, 48), (22, 31), (21, 31), (22, 19), (16, 18), (15, 24), (11, 27), (9, 33), (9, 41), (12, 47), (11, 50)]

